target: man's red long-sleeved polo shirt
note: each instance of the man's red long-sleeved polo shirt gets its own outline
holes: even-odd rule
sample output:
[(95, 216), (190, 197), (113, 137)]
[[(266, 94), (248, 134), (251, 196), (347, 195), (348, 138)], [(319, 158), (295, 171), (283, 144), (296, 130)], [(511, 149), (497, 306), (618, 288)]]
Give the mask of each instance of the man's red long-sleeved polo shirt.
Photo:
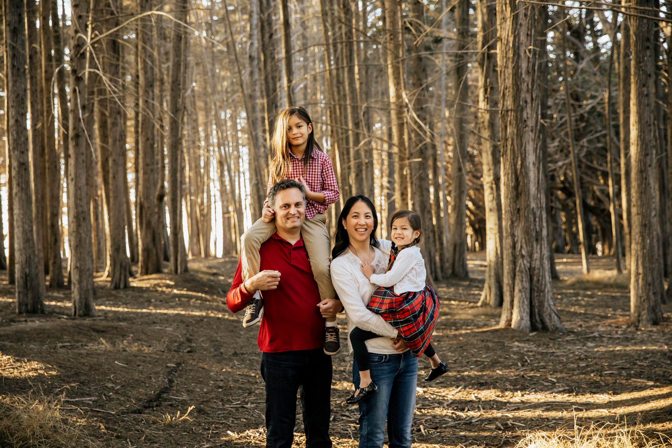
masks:
[[(280, 271), (277, 289), (262, 291), (263, 319), (257, 344), (265, 352), (310, 350), (324, 346), (325, 319), (317, 304), (320, 293), (310, 269), (303, 238), (292, 245), (274, 234), (261, 244), (259, 269)], [(226, 294), (226, 306), (232, 312), (245, 309), (252, 300), (243, 285), (241, 261)]]

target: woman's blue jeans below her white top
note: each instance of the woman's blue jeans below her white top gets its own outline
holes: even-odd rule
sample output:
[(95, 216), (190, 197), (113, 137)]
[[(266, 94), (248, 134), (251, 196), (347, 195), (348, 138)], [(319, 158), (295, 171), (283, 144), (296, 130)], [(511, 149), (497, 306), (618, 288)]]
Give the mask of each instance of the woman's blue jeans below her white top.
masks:
[[(388, 446), (410, 448), (418, 359), (410, 350), (394, 355), (369, 353), (369, 365), (378, 392), (360, 402), (360, 448), (382, 447), (386, 420)], [(352, 382), (355, 388), (360, 384), (357, 361), (352, 365)]]

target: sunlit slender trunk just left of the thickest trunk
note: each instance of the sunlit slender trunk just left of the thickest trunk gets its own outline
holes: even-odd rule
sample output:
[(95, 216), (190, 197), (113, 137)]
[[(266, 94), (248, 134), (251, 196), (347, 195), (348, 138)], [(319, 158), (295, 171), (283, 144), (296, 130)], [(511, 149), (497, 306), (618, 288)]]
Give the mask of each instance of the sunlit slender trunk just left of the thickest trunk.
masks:
[(499, 116), (497, 109), (497, 7), (487, 0), (478, 0), (478, 132), (483, 160), (483, 190), (485, 196), (487, 266), (485, 285), (479, 306), (502, 306), (502, 203), (501, 154), (499, 153)]

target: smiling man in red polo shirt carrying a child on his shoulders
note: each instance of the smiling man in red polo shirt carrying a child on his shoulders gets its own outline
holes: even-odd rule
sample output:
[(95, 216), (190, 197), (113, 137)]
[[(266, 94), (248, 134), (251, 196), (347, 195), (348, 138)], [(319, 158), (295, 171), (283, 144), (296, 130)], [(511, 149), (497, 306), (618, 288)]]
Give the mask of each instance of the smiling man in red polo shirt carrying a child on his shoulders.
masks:
[(263, 291), (264, 314), (257, 344), (266, 384), (266, 446), (290, 448), (300, 388), (306, 448), (330, 448), (331, 356), (324, 347), (325, 317), (335, 316), (338, 300), (321, 303), (301, 238), (306, 191), (291, 179), (273, 185), (269, 206), (278, 231), (261, 244), (260, 272), (245, 283), (241, 263), (226, 295), (232, 312), (245, 309)]

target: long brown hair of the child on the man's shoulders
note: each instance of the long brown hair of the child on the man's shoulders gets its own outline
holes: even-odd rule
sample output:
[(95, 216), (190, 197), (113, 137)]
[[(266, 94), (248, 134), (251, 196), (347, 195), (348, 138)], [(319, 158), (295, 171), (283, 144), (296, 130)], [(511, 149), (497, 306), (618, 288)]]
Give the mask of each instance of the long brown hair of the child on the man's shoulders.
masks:
[[(306, 122), (306, 124), (312, 124), (308, 112), (303, 107), (288, 107), (284, 111), (280, 112), (278, 115), (278, 122), (276, 123), (276, 132), (273, 134), (273, 140), (271, 142), (271, 147), (274, 151), (274, 158), (271, 162), (271, 179), (273, 183), (282, 181), (285, 179), (292, 168), (292, 155), (290, 149), (290, 141), (287, 135), (290, 118), (294, 115), (298, 116)], [(306, 142), (306, 152), (303, 154), (303, 171), (304, 175), (306, 173), (306, 168), (308, 167), (308, 161), (310, 161), (310, 156), (312, 156), (312, 151), (317, 149), (322, 150), (313, 134), (313, 130), (308, 134), (308, 142)]]

